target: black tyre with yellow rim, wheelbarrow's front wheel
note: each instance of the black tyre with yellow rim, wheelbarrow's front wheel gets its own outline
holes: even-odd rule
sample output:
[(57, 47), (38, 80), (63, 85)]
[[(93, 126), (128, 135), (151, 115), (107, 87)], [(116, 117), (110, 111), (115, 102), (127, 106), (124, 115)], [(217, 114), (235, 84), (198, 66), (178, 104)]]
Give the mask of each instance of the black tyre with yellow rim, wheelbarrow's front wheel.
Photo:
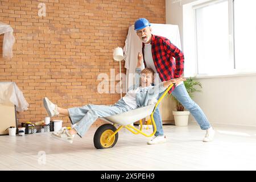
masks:
[(109, 138), (109, 136), (112, 135), (115, 130), (117, 129), (111, 124), (101, 125), (96, 130), (93, 137), (94, 147), (98, 149), (114, 147), (115, 143), (117, 143), (118, 133), (112, 138)]

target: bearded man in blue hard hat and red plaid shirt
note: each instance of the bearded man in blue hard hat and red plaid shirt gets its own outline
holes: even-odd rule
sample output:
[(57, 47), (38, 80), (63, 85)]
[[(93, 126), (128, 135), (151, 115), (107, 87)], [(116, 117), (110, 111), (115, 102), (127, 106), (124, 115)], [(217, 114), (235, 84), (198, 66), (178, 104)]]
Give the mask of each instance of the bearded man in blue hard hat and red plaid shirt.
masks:
[[(152, 68), (158, 73), (160, 79), (157, 81), (166, 81), (174, 79), (175, 87), (169, 93), (191, 112), (202, 130), (206, 130), (203, 142), (213, 140), (215, 131), (205, 116), (203, 110), (189, 97), (183, 82), (179, 82), (184, 71), (184, 55), (179, 48), (174, 46), (170, 40), (161, 36), (151, 34), (151, 24), (145, 18), (139, 18), (134, 23), (134, 30), (137, 32), (139, 39), (142, 41), (142, 53), (144, 65), (146, 68)], [(174, 60), (175, 58), (175, 60)], [(159, 97), (163, 93), (159, 94)], [(148, 144), (157, 144), (166, 142), (166, 136), (163, 132), (162, 118), (160, 117), (159, 108), (155, 110), (154, 120), (156, 123), (155, 137), (148, 141)]]

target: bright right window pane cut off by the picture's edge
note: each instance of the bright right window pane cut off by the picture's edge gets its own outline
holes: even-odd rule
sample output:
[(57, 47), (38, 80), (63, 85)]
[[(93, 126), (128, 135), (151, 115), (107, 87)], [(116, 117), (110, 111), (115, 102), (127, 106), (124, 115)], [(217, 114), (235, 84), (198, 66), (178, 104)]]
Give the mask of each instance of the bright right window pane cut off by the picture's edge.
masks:
[(234, 1), (234, 48), (236, 69), (256, 68), (256, 1)]

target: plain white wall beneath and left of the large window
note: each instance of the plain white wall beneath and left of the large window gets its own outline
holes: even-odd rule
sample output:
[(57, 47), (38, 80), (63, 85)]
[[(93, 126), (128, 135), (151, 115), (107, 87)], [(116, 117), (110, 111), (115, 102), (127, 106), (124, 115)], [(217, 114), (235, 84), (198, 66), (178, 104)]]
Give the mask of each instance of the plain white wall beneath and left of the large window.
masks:
[[(171, 3), (166, 0), (166, 23), (177, 24), (183, 47), (182, 5), (196, 0)], [(184, 55), (185, 56), (185, 55)], [(193, 100), (204, 110), (210, 123), (256, 126), (256, 74), (199, 78), (202, 93)], [(191, 117), (191, 120), (194, 120)]]

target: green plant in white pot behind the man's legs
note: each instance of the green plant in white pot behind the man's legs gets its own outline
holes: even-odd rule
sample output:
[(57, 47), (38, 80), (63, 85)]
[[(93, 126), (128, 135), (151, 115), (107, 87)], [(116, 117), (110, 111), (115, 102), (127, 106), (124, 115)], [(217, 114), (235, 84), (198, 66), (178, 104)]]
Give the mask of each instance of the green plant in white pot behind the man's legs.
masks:
[[(199, 86), (202, 88), (202, 85), (200, 82), (193, 80), (191, 77), (187, 78), (186, 81), (184, 81), (185, 88), (187, 89), (187, 92), (189, 96), (192, 98), (194, 92), (201, 92), (201, 90), (197, 89), (196, 86)], [(172, 114), (174, 115), (174, 121), (176, 126), (187, 126), (188, 125), (188, 117), (189, 117), (189, 111), (184, 111), (184, 106), (180, 104), (179, 101), (176, 100), (174, 96), (172, 96), (172, 99), (176, 102), (176, 111), (172, 111)]]

